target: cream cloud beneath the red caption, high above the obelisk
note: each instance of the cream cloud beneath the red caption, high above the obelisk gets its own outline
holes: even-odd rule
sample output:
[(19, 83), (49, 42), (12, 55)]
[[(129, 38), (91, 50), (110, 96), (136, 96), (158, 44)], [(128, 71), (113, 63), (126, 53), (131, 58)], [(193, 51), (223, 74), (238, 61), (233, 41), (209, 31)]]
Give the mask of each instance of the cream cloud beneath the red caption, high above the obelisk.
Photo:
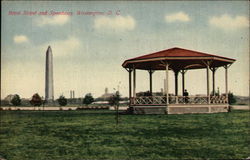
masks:
[(42, 27), (45, 25), (59, 25), (62, 26), (66, 24), (69, 21), (69, 16), (68, 15), (57, 15), (53, 17), (46, 17), (46, 16), (41, 16), (35, 20), (36, 25)]

